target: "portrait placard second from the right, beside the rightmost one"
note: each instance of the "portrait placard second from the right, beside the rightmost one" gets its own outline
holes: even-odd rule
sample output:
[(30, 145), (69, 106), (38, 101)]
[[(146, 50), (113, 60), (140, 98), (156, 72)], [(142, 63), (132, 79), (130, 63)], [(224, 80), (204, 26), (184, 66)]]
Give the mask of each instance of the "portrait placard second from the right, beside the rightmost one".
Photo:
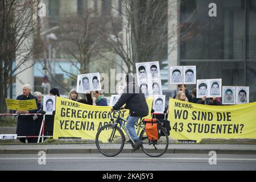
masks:
[(222, 86), (222, 104), (236, 104), (236, 86)]

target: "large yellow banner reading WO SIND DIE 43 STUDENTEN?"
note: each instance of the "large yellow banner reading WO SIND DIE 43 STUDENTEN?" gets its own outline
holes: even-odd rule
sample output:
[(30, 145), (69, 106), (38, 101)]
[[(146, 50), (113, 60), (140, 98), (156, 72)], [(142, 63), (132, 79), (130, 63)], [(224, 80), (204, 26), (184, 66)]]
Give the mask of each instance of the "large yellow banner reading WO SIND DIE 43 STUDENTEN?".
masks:
[(168, 120), (172, 139), (199, 143), (201, 139), (256, 138), (256, 102), (210, 106), (170, 98)]

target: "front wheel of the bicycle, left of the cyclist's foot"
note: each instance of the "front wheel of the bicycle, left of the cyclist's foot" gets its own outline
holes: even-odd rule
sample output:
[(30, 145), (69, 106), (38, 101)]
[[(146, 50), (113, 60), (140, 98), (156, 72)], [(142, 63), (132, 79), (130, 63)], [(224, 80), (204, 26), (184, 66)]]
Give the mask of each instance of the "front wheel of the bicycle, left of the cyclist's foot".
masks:
[(118, 155), (123, 150), (124, 145), (125, 135), (118, 126), (113, 129), (112, 124), (105, 125), (96, 134), (98, 151), (105, 156), (113, 157)]

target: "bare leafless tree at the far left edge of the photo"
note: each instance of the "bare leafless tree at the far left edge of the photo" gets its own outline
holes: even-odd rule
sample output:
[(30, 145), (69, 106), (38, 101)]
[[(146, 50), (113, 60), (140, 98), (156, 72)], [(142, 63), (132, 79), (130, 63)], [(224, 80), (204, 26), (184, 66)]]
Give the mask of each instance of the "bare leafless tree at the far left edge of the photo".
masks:
[[(30, 0), (0, 1), (0, 113), (6, 112), (5, 98), (15, 76), (33, 66), (22, 68), (38, 46), (27, 44), (39, 27), (35, 19), (37, 5), (38, 1)], [(19, 57), (18, 64), (15, 64), (16, 57)]]

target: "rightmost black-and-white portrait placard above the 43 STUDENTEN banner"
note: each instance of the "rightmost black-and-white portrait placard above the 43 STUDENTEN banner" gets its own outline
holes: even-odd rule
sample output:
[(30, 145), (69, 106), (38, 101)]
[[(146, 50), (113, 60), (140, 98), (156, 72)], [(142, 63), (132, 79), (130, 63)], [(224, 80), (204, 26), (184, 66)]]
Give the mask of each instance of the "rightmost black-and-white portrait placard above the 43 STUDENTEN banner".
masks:
[(249, 86), (236, 86), (236, 104), (249, 103)]

